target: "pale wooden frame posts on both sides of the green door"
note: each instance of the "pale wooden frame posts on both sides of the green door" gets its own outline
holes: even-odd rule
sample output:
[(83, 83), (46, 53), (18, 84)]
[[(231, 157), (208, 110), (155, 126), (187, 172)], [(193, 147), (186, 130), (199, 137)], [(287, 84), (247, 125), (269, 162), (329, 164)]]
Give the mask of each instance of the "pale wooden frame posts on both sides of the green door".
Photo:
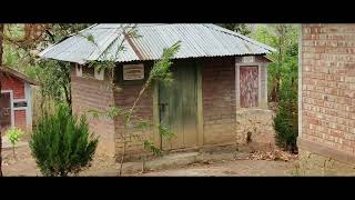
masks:
[[(200, 62), (193, 61), (193, 66), (196, 68), (196, 83), (197, 83), (197, 110), (196, 110), (196, 128), (197, 128), (197, 147), (202, 147), (204, 143), (203, 134), (203, 101), (202, 101), (202, 64)], [(153, 87), (153, 123), (160, 124), (160, 108), (159, 108), (159, 83), (154, 82)], [(161, 136), (159, 133), (158, 127), (153, 130), (153, 141), (154, 146), (162, 149)]]

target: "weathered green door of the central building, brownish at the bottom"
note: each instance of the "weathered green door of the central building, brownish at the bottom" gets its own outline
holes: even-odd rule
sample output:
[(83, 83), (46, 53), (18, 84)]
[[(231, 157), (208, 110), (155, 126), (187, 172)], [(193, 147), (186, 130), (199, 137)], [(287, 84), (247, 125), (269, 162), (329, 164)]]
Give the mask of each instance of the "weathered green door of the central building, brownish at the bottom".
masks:
[(197, 146), (196, 67), (179, 62), (172, 68), (173, 84), (159, 86), (160, 122), (174, 133), (171, 141), (162, 140), (163, 150)]

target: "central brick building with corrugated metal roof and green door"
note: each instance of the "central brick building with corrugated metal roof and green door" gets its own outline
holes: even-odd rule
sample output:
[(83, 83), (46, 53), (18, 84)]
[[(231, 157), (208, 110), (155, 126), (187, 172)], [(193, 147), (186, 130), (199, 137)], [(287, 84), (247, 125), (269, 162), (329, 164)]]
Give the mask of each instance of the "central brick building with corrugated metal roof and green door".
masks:
[[(161, 139), (158, 129), (135, 132), (149, 137), (163, 150), (193, 149), (235, 144), (246, 140), (237, 116), (267, 111), (266, 53), (272, 48), (214, 24), (138, 24), (140, 37), (130, 38), (122, 24), (95, 24), (81, 36), (72, 36), (40, 53), (42, 58), (72, 63), (72, 108), (75, 113), (106, 110), (110, 106), (132, 107), (154, 60), (164, 48), (181, 41), (173, 60), (173, 86), (155, 83), (143, 94), (134, 120), (163, 124), (175, 137)], [(95, 46), (82, 36), (92, 36)], [(88, 68), (90, 60), (104, 60), (102, 52), (115, 52), (123, 39), (124, 51), (116, 58), (114, 83), (109, 72)], [(121, 41), (121, 40), (120, 40)], [(111, 54), (110, 54), (111, 53)], [(263, 117), (262, 117), (263, 118)], [(122, 119), (89, 118), (91, 131), (100, 134), (100, 151), (111, 156), (122, 152)], [(257, 138), (257, 137), (255, 137)], [(267, 137), (266, 137), (267, 138)], [(268, 136), (266, 142), (272, 142)], [(129, 139), (128, 154), (139, 154), (142, 142)]]

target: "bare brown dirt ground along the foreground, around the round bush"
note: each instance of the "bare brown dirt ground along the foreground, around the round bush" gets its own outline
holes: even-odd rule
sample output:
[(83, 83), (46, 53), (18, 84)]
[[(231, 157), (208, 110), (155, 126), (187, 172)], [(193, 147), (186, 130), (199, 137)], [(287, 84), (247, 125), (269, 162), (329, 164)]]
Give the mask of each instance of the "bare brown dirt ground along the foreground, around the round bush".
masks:
[[(28, 147), (17, 149), (17, 158), (12, 151), (3, 152), (3, 174), (8, 177), (41, 176)], [(223, 176), (292, 176), (295, 162), (268, 160), (229, 160), (193, 163), (183, 168), (149, 171), (130, 176), (143, 177), (223, 177)], [(108, 158), (97, 157), (92, 166), (80, 176), (118, 176), (118, 166)]]

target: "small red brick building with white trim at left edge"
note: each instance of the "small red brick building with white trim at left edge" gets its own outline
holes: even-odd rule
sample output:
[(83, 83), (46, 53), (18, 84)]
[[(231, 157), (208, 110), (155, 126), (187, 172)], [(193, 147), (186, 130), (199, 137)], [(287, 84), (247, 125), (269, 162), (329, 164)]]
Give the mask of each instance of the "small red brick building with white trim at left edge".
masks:
[(34, 81), (8, 67), (0, 67), (2, 73), (0, 122), (2, 133), (11, 127), (23, 131), (32, 129), (31, 84)]

